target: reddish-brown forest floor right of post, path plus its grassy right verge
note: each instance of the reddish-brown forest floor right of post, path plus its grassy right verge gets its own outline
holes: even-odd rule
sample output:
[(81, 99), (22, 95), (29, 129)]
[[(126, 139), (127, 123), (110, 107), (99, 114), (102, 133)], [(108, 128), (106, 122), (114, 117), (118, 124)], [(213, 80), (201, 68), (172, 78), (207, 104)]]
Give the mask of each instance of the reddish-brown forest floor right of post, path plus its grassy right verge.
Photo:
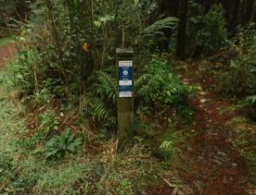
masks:
[[(212, 90), (216, 83), (214, 63), (205, 61), (191, 62), (180, 73), (181, 79), (202, 87), (197, 100), (192, 101), (194, 108), (194, 134), (190, 140), (191, 149), (183, 153), (183, 163), (179, 176), (196, 194), (255, 194), (255, 145), (249, 146), (250, 157), (242, 154), (241, 135), (253, 140), (256, 124), (251, 123), (244, 113), (238, 113), (236, 104)], [(211, 68), (211, 74), (206, 74)], [(241, 146), (241, 147), (239, 147)], [(251, 157), (252, 158), (252, 157)]]

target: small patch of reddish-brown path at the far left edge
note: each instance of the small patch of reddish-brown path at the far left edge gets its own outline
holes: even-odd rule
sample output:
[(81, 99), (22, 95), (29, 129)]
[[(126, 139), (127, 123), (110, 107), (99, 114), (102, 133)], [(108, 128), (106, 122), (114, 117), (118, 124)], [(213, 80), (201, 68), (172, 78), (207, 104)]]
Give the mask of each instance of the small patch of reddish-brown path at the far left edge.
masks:
[(6, 60), (9, 60), (17, 53), (15, 43), (0, 45), (0, 69), (4, 67)]

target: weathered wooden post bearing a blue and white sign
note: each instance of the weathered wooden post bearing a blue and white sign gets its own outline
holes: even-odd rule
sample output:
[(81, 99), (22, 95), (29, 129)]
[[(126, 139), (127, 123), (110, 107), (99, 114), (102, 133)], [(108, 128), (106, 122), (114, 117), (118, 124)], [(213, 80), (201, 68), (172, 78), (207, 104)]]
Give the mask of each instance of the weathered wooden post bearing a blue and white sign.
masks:
[(134, 139), (134, 80), (132, 48), (117, 49), (118, 151), (122, 152)]

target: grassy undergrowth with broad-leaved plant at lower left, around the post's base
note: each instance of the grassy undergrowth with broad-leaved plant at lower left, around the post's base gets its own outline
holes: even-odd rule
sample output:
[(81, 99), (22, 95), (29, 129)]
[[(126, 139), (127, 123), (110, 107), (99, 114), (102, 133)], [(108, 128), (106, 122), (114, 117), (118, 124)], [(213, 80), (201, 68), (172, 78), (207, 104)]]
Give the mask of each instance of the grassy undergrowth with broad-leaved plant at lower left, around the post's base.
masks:
[(148, 186), (162, 185), (165, 172), (140, 139), (134, 140), (133, 148), (117, 154), (115, 140), (102, 139), (84, 126), (80, 129), (87, 138), (84, 142), (73, 126), (63, 132), (67, 121), (49, 107), (38, 108), (44, 112), (38, 128), (30, 132), (25, 124), (27, 111), (9, 79), (11, 68), (0, 73), (1, 193), (142, 194)]

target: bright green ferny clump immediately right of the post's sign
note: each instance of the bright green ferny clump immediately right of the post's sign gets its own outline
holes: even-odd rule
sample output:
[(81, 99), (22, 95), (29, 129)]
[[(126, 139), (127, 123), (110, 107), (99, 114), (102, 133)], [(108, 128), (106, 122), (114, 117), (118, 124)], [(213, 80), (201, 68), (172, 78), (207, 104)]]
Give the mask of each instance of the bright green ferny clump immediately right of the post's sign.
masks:
[(188, 89), (172, 65), (160, 58), (153, 58), (134, 81), (135, 98), (145, 103), (186, 104)]

